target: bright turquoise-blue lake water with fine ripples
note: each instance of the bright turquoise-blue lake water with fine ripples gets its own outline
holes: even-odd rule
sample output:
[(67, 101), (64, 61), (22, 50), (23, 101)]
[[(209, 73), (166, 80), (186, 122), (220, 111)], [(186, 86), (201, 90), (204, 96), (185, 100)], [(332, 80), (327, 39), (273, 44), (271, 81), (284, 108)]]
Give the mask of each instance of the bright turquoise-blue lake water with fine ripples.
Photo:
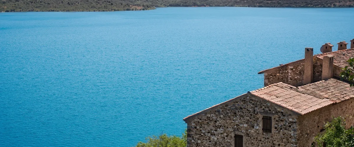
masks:
[(0, 13), (0, 146), (131, 147), (354, 38), (353, 8)]

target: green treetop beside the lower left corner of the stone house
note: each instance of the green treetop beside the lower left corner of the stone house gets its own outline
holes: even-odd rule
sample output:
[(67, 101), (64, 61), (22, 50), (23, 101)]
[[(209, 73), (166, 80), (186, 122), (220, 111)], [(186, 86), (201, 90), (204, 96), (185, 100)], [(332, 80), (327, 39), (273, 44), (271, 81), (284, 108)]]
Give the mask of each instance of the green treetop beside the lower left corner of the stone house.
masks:
[(149, 136), (145, 138), (146, 143), (139, 142), (136, 147), (186, 147), (187, 146), (187, 130), (179, 136), (167, 136), (161, 134), (160, 136)]

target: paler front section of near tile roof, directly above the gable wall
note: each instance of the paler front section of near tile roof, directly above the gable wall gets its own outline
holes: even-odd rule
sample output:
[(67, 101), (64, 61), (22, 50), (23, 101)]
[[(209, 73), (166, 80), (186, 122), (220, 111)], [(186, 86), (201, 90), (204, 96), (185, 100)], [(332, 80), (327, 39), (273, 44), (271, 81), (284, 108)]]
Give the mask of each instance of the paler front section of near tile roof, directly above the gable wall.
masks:
[(318, 97), (299, 92), (297, 87), (287, 85), (282, 82), (251, 91), (251, 94), (289, 110), (295, 111), (301, 115), (335, 103), (330, 99), (320, 99)]

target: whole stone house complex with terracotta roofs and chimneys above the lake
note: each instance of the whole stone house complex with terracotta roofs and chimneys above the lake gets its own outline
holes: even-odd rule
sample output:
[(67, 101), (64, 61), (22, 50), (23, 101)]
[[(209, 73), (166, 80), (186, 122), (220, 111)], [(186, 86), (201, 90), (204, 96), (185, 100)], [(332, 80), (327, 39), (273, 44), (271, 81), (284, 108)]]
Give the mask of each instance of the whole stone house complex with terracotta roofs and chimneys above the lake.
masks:
[(259, 72), (265, 87), (183, 119), (187, 147), (316, 146), (324, 122), (354, 116), (354, 87), (338, 78), (350, 57), (354, 48), (318, 55), (305, 48), (305, 59)]

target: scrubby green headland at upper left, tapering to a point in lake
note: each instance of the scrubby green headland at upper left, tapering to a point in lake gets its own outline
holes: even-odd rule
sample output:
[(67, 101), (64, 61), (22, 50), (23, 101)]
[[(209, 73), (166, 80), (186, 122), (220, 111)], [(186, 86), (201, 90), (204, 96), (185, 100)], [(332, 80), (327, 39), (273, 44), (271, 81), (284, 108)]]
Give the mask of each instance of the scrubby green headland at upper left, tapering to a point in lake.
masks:
[(126, 11), (151, 10), (154, 6), (127, 0), (0, 0), (1, 12), (21, 11)]

